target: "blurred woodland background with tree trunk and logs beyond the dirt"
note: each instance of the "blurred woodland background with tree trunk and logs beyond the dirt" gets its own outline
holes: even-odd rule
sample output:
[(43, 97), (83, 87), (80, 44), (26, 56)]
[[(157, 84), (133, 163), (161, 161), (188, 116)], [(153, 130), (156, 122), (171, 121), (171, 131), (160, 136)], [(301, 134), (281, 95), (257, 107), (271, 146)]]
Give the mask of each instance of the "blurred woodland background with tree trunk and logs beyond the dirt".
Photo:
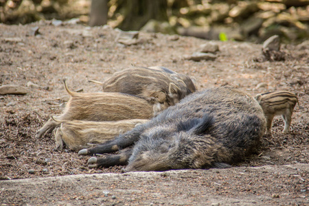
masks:
[(0, 0), (0, 23), (52, 19), (221, 41), (278, 34), (299, 43), (309, 37), (309, 0)]

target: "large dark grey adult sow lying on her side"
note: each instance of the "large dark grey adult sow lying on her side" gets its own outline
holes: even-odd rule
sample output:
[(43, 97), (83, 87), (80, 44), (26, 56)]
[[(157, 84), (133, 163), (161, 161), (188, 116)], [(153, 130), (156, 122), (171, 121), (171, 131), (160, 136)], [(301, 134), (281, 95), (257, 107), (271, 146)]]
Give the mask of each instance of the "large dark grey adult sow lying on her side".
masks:
[(128, 163), (126, 172), (224, 168), (255, 152), (265, 128), (262, 108), (251, 95), (220, 87), (187, 95), (150, 122), (78, 154), (110, 153), (134, 144), (119, 155), (91, 157), (89, 167)]

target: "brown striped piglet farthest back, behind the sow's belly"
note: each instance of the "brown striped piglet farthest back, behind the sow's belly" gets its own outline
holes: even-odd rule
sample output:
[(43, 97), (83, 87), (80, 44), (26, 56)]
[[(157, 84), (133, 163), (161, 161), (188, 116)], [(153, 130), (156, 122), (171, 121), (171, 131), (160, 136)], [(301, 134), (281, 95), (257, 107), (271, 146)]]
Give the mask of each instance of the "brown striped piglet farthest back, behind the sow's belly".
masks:
[(132, 67), (115, 72), (101, 84), (104, 92), (137, 95), (153, 104), (155, 115), (196, 91), (191, 78), (165, 67)]

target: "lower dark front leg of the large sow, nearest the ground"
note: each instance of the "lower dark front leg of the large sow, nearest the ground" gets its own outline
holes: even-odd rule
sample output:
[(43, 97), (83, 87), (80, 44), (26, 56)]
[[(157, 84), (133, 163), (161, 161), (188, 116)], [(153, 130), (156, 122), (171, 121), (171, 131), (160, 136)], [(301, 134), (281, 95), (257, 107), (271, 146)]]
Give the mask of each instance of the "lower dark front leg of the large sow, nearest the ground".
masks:
[(91, 157), (88, 160), (88, 166), (89, 168), (108, 168), (114, 165), (127, 165), (128, 159), (132, 155), (132, 152), (132, 148), (129, 148), (121, 150), (119, 155), (104, 155), (103, 157)]

